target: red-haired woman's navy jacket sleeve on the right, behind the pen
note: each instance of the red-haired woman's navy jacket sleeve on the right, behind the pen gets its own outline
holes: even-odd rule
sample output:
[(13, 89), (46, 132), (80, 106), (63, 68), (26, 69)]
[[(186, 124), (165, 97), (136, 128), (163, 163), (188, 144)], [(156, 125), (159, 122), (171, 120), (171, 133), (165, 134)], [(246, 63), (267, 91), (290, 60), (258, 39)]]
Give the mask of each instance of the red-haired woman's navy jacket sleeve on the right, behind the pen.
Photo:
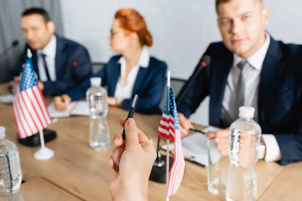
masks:
[[(152, 114), (159, 112), (159, 105), (161, 103), (165, 83), (166, 83), (167, 64), (162, 62), (155, 73), (146, 97), (138, 98), (135, 111), (139, 113)], [(129, 110), (132, 99), (125, 99), (121, 108)]]

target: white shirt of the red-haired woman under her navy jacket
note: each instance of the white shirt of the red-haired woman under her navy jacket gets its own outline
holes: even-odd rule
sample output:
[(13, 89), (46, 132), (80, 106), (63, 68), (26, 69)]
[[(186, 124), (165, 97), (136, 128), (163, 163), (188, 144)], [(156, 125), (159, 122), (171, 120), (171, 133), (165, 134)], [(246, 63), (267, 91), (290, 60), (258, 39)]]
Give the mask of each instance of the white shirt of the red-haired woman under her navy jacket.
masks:
[(114, 97), (129, 99), (132, 97), (133, 86), (136, 80), (136, 76), (140, 67), (147, 68), (149, 66), (150, 54), (148, 50), (143, 47), (138, 63), (130, 70), (126, 82), (124, 82), (126, 71), (126, 59), (122, 56), (117, 63), (121, 64), (121, 75), (116, 84)]

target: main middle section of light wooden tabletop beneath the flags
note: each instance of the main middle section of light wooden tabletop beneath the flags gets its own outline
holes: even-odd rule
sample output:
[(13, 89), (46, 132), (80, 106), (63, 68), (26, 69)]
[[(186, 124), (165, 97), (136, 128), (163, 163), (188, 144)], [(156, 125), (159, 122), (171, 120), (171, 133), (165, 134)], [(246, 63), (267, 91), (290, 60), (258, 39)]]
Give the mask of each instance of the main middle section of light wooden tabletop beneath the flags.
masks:
[[(0, 86), (1, 92), (3, 91)], [(51, 99), (46, 98), (46, 102), (50, 103)], [(126, 117), (127, 113), (127, 111), (117, 108), (109, 109), (107, 119), (111, 138), (122, 132), (118, 120), (120, 117)], [(36, 177), (43, 177), (80, 199), (111, 200), (109, 182), (113, 178), (114, 172), (108, 166), (107, 160), (114, 147), (111, 143), (108, 151), (104, 152), (95, 152), (90, 148), (89, 117), (73, 116), (52, 123), (48, 128), (57, 131), (57, 138), (47, 143), (46, 146), (54, 150), (54, 157), (38, 161), (33, 158), (33, 153), (38, 147), (29, 148), (17, 143), (12, 106), (0, 104), (0, 114), (0, 126), (6, 127), (7, 139), (15, 142), (19, 148), (24, 180), (30, 181)], [(154, 140), (155, 146), (160, 118), (160, 115), (134, 115), (137, 126)], [(202, 126), (196, 127), (203, 128)], [(163, 140), (161, 144), (164, 143)], [(257, 163), (258, 197), (268, 189), (280, 169), (281, 166), (276, 163), (264, 161)], [(165, 184), (149, 181), (149, 200), (165, 200), (165, 189)], [(225, 197), (209, 193), (206, 169), (187, 162), (182, 184), (170, 200), (225, 200)]]

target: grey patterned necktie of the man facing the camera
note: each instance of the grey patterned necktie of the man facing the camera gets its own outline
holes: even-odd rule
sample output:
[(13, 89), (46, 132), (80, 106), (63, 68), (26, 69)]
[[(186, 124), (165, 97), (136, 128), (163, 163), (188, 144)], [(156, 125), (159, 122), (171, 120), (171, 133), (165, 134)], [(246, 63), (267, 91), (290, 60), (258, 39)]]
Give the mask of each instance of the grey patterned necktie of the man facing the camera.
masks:
[(246, 60), (241, 61), (238, 64), (238, 68), (240, 69), (240, 75), (238, 79), (238, 83), (235, 89), (235, 104), (233, 109), (233, 122), (238, 119), (239, 108), (244, 106), (244, 94), (245, 94), (245, 86), (246, 81), (248, 79), (248, 71), (251, 68), (251, 64)]

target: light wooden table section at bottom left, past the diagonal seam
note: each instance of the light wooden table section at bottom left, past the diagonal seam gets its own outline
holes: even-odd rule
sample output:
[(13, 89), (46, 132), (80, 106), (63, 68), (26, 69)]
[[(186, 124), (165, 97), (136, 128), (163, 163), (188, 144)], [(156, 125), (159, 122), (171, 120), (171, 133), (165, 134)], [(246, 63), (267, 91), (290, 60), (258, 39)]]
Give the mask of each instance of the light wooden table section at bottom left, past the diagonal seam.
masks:
[(81, 201), (78, 197), (64, 191), (53, 183), (37, 177), (21, 185), (20, 192), (25, 201)]

